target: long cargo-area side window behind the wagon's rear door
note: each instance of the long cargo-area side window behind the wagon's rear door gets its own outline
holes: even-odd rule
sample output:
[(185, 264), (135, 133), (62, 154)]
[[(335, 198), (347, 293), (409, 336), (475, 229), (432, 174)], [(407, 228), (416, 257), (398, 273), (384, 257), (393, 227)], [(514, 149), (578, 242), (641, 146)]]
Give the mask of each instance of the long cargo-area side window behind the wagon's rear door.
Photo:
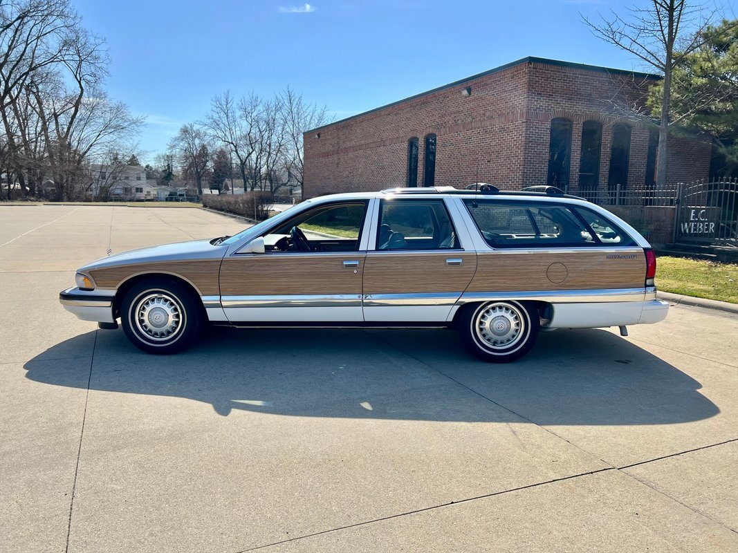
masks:
[(493, 248), (600, 244), (589, 226), (565, 205), (473, 199), (463, 203), (484, 240)]

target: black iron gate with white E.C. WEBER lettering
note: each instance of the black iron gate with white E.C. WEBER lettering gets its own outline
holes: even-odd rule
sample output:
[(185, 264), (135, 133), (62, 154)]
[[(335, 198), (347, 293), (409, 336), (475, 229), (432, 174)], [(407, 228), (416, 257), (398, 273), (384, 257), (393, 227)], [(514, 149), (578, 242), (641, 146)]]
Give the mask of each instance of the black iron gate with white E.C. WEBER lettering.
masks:
[(738, 179), (679, 184), (675, 242), (738, 247)]

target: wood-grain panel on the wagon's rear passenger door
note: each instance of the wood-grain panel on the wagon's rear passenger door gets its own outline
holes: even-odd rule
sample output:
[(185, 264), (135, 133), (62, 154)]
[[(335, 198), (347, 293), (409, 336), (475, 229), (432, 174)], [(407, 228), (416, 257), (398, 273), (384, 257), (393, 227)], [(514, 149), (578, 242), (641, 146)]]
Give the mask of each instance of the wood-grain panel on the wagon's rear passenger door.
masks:
[[(462, 265), (446, 265), (462, 259)], [(364, 293), (461, 293), (477, 268), (477, 254), (443, 251), (432, 254), (368, 254)]]

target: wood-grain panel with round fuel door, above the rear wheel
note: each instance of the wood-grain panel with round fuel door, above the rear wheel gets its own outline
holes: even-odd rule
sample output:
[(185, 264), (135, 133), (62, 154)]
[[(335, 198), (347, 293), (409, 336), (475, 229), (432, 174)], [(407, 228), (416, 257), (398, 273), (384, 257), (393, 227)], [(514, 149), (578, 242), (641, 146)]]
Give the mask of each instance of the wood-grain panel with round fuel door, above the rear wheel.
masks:
[[(608, 257), (608, 256), (633, 257)], [(643, 288), (646, 256), (632, 251), (534, 252), (525, 254), (483, 254), (469, 292), (592, 290), (598, 288)], [(565, 276), (562, 282), (551, 282)]]

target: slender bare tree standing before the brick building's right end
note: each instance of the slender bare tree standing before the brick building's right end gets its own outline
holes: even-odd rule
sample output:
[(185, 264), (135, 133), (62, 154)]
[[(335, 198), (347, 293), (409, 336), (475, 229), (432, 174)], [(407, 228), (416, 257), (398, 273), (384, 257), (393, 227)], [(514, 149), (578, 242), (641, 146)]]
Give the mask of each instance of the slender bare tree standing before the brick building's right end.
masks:
[(627, 16), (613, 13), (593, 22), (583, 17), (592, 32), (614, 44), (663, 74), (663, 98), (659, 120), (658, 164), (656, 182), (666, 184), (666, 144), (669, 136), (669, 114), (672, 72), (686, 55), (699, 48), (703, 31), (714, 11), (689, 0), (651, 0), (649, 7), (633, 7)]

